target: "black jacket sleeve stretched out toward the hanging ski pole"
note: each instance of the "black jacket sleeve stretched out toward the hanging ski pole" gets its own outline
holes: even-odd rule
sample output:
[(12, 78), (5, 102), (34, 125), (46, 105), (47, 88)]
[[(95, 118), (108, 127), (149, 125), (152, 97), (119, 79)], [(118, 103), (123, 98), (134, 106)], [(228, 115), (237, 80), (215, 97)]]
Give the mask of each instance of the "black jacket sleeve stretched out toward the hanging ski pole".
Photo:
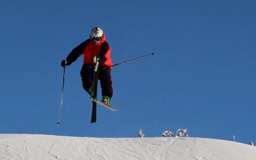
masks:
[(66, 60), (69, 61), (69, 65), (72, 62), (75, 62), (78, 58), (78, 56), (80, 54), (83, 53), (83, 51), (85, 50), (85, 48), (88, 46), (88, 44), (90, 43), (90, 39), (87, 39), (86, 41), (82, 42), (79, 46), (77, 46), (76, 48), (74, 48), (69, 55), (67, 56)]

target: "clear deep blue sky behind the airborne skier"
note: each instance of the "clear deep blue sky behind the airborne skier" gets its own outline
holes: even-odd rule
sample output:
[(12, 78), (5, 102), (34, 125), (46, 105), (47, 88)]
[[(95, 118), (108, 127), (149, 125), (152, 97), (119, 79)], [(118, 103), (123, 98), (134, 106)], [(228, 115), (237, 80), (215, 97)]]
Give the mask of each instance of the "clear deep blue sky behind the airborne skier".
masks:
[[(191, 137), (256, 143), (256, 1), (1, 1), (0, 133)], [(118, 112), (83, 90), (70, 51), (101, 27)], [(100, 88), (100, 87), (99, 87)], [(100, 92), (100, 91), (99, 91)], [(101, 98), (101, 94), (98, 94)], [(99, 98), (98, 97), (98, 98)], [(99, 98), (99, 99), (100, 99)]]

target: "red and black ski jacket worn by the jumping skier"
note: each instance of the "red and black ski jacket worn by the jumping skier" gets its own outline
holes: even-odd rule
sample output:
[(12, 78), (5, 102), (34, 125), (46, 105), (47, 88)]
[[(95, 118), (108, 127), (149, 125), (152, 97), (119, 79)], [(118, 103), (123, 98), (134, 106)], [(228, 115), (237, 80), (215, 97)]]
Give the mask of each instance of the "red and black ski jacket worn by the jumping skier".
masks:
[(74, 48), (66, 60), (71, 64), (76, 61), (78, 57), (84, 55), (84, 64), (93, 64), (93, 57), (97, 54), (100, 55), (101, 66), (112, 66), (113, 64), (110, 58), (110, 53), (111, 48), (106, 41), (105, 34), (103, 34), (103, 38), (97, 46), (95, 46), (90, 39), (87, 39)]

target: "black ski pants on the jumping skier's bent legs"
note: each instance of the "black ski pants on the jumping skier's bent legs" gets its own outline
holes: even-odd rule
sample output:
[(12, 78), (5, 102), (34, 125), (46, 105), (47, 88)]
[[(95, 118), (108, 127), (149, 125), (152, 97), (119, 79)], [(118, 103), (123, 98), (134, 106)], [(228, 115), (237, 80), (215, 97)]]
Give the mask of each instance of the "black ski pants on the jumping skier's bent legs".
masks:
[[(91, 64), (84, 64), (82, 66), (80, 75), (82, 78), (83, 88), (86, 92), (89, 93), (89, 87), (93, 84), (93, 66)], [(111, 69), (106, 68), (106, 69), (100, 70), (99, 80), (100, 80), (102, 96), (108, 96), (111, 98), (113, 96)]]

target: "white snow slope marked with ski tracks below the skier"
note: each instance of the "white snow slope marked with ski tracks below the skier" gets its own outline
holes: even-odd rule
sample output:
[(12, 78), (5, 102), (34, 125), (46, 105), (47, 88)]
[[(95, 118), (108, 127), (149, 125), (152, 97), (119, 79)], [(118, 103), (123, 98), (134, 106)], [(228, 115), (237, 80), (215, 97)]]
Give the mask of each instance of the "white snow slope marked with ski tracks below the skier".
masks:
[(0, 160), (255, 160), (256, 147), (191, 138), (0, 134)]

